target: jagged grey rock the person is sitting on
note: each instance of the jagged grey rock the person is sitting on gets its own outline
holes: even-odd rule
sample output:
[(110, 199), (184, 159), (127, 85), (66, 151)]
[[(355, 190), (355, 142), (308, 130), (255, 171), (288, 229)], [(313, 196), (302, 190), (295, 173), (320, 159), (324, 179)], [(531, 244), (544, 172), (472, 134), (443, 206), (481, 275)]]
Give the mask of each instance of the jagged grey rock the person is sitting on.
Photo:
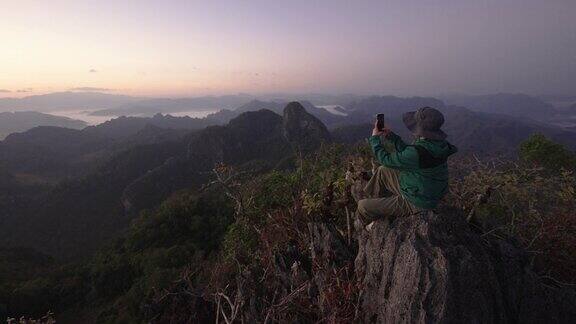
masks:
[(460, 217), (377, 221), (358, 243), (364, 322), (576, 321), (573, 293), (542, 285), (517, 248), (488, 244)]

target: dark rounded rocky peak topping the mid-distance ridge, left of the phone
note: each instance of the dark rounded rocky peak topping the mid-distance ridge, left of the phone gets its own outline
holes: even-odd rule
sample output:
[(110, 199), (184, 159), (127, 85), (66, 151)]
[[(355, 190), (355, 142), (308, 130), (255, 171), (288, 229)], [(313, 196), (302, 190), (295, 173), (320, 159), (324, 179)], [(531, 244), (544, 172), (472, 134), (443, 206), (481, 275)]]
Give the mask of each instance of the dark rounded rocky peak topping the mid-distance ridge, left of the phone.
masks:
[(284, 137), (288, 142), (304, 151), (330, 141), (326, 126), (306, 112), (299, 102), (291, 102), (284, 108), (283, 126)]

